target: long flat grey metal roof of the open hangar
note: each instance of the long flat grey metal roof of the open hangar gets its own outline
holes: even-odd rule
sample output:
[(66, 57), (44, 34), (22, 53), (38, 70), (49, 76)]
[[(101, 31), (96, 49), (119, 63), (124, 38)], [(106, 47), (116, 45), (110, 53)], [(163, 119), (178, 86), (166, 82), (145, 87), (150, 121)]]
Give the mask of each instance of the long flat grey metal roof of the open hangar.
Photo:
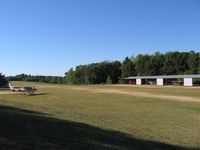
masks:
[(195, 75), (162, 75), (162, 76), (134, 76), (134, 77), (127, 77), (125, 79), (157, 79), (157, 78), (164, 78), (164, 79), (178, 79), (178, 78), (200, 78), (200, 74)]

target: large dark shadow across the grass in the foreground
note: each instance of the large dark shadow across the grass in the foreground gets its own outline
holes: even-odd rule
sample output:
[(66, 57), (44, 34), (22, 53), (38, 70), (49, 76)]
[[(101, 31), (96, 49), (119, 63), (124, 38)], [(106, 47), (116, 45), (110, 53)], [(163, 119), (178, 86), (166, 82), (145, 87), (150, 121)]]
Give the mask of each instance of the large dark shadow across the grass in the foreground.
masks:
[(186, 150), (8, 106), (0, 106), (0, 149)]

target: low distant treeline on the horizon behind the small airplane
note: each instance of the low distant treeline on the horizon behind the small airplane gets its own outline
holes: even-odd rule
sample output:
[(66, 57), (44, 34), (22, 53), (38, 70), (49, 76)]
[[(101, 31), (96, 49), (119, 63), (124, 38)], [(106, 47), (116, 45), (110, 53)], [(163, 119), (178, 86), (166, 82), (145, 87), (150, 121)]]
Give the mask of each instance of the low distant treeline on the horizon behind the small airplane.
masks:
[(63, 84), (64, 78), (59, 76), (33, 76), (27, 74), (19, 74), (16, 76), (6, 77), (8, 81), (30, 81)]

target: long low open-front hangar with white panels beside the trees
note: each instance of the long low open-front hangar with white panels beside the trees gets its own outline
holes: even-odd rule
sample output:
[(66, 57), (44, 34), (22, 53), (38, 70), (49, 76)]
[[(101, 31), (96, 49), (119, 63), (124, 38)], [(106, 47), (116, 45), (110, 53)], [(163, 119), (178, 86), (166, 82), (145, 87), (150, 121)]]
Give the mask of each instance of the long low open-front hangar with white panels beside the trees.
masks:
[(184, 86), (193, 86), (194, 79), (200, 79), (200, 74), (195, 75), (163, 75), (163, 76), (130, 76), (125, 78), (129, 84), (155, 84), (155, 85), (169, 85), (179, 84)]

